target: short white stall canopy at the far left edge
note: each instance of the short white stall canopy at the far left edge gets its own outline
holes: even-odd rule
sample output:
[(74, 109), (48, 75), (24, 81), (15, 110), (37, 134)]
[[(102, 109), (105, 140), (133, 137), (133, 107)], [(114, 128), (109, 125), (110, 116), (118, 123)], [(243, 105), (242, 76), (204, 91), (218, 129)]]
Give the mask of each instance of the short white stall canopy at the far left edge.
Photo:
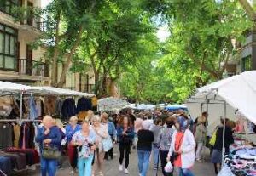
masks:
[(31, 87), (12, 82), (0, 81), (0, 93), (1, 94), (20, 94), (22, 91), (27, 91)]

